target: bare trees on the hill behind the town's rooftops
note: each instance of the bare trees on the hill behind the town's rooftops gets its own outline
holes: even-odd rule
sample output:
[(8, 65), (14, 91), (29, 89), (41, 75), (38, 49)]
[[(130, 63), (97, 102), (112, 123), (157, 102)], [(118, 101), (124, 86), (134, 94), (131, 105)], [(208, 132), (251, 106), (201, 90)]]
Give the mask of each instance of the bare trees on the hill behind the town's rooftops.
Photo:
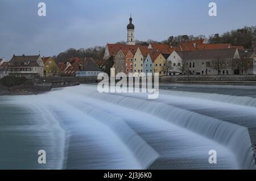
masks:
[[(147, 40), (147, 41), (139, 41), (135, 40), (136, 45), (149, 45), (150, 43), (160, 43), (160, 44), (168, 44), (172, 46), (177, 46), (181, 42), (191, 41), (191, 40), (200, 40), (205, 39), (210, 44), (217, 44), (217, 43), (231, 43), (232, 45), (240, 45), (244, 48), (251, 48), (251, 41), (253, 37), (256, 35), (256, 26), (253, 27), (243, 27), (241, 29), (228, 31), (222, 33), (215, 33), (214, 35), (210, 35), (209, 38), (205, 35), (193, 36), (193, 35), (179, 35), (179, 36), (170, 36), (167, 40), (163, 41), (154, 41), (154, 40)], [(126, 44), (125, 41), (119, 41), (117, 44)], [(95, 60), (102, 60), (104, 57), (105, 47), (93, 47), (93, 48), (80, 48), (74, 49), (69, 48), (65, 52), (61, 52), (57, 56), (53, 56), (57, 63), (65, 62), (70, 57), (92, 57)]]

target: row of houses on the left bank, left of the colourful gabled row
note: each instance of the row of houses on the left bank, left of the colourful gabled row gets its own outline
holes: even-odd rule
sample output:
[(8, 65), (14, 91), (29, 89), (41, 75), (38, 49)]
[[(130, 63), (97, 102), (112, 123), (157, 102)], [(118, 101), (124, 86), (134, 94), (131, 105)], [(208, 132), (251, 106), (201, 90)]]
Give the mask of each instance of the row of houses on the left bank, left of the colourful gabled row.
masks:
[(16, 56), (11, 60), (0, 59), (0, 78), (7, 75), (15, 77), (37, 78), (55, 76), (97, 76), (102, 70), (92, 58), (69, 58), (65, 63), (56, 64), (52, 57)]

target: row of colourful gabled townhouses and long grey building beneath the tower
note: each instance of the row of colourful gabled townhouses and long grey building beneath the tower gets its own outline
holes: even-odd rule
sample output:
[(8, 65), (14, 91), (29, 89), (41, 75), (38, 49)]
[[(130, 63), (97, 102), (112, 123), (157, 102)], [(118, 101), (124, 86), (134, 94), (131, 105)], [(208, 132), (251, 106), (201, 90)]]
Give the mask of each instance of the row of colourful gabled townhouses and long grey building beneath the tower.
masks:
[[(107, 44), (104, 59), (110, 57), (114, 60), (115, 74), (254, 74), (256, 64), (253, 50), (231, 44), (207, 44), (203, 39), (180, 43), (177, 47), (154, 43)], [(242, 64), (247, 65), (240, 68)]]

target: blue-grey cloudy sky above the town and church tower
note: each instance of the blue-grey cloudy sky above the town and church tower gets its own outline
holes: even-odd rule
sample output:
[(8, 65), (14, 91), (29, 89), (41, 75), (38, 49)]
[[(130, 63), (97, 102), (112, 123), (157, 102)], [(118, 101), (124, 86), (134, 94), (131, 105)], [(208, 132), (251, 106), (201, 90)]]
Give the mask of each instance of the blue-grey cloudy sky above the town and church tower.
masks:
[[(38, 3), (46, 16), (38, 16)], [(208, 15), (209, 2), (217, 16)], [(126, 40), (130, 13), (135, 39), (162, 41), (176, 35), (211, 35), (256, 26), (255, 0), (0, 0), (0, 57), (57, 55)]]

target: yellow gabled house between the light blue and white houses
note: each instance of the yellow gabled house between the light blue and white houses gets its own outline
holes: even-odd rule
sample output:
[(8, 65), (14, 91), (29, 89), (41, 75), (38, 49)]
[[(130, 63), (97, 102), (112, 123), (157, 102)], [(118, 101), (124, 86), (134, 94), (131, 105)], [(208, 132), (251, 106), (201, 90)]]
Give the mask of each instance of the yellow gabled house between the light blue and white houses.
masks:
[(166, 60), (169, 56), (170, 54), (160, 53), (158, 57), (155, 58), (154, 73), (159, 73), (159, 76), (167, 75), (165, 67), (166, 67)]

